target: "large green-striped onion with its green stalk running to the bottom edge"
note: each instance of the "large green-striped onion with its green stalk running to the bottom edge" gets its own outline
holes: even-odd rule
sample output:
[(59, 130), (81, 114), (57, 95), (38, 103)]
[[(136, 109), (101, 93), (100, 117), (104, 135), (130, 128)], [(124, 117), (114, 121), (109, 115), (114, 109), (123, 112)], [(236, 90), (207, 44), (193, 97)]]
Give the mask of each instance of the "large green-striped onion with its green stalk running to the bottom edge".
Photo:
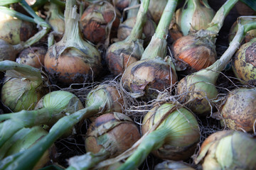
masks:
[(186, 160), (195, 152), (200, 140), (196, 117), (186, 108), (175, 108), (164, 103), (149, 111), (142, 123), (142, 135), (156, 123), (162, 121), (156, 130), (149, 132), (132, 155), (119, 166), (120, 169), (136, 169), (152, 152), (156, 157), (171, 160)]

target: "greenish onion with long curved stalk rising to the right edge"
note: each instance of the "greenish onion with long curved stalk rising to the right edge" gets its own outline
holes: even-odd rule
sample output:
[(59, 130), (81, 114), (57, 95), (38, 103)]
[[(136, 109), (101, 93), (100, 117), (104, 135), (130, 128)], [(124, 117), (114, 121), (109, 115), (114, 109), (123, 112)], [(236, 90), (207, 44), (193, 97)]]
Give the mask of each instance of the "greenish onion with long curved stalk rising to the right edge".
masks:
[[(214, 64), (206, 69), (189, 74), (181, 79), (177, 85), (177, 94), (181, 95), (181, 102), (188, 102), (188, 108), (198, 115), (205, 115), (213, 111), (212, 100), (217, 98), (218, 90), (215, 87), (220, 72), (235, 54), (240, 42), (248, 30), (256, 28), (255, 16), (239, 17), (238, 32), (228, 49)], [(249, 20), (250, 23), (242, 24), (241, 20)]]

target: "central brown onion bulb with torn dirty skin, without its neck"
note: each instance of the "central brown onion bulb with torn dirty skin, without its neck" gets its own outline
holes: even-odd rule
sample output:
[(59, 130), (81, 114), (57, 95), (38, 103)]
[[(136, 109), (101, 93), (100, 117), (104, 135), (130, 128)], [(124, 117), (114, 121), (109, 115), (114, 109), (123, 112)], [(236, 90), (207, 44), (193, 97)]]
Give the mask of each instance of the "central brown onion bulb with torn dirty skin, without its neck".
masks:
[(151, 100), (177, 80), (176, 72), (168, 62), (146, 59), (130, 64), (122, 75), (121, 84), (132, 97), (143, 96)]

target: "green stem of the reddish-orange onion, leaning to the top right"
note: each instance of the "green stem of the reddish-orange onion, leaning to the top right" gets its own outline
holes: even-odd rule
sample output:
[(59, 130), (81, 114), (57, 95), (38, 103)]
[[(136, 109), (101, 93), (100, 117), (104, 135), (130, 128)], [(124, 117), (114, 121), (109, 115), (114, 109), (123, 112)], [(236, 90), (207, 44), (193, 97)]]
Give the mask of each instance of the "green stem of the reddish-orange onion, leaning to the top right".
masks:
[(230, 10), (235, 6), (235, 4), (238, 2), (238, 0), (228, 0), (221, 6), (215, 16), (213, 17), (213, 20), (210, 22), (210, 26), (206, 28), (206, 30), (213, 31), (214, 34), (218, 34), (220, 32), (220, 28), (223, 26), (223, 22), (225, 20), (225, 17), (228, 16), (228, 13)]

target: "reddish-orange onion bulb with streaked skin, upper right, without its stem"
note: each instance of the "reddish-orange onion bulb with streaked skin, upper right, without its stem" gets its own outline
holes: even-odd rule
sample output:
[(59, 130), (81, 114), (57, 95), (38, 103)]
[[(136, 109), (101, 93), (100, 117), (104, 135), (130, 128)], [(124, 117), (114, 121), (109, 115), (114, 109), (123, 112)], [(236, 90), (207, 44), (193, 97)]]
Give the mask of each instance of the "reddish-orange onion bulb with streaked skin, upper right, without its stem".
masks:
[(215, 45), (206, 37), (186, 35), (172, 46), (177, 71), (197, 72), (213, 64), (217, 59)]

